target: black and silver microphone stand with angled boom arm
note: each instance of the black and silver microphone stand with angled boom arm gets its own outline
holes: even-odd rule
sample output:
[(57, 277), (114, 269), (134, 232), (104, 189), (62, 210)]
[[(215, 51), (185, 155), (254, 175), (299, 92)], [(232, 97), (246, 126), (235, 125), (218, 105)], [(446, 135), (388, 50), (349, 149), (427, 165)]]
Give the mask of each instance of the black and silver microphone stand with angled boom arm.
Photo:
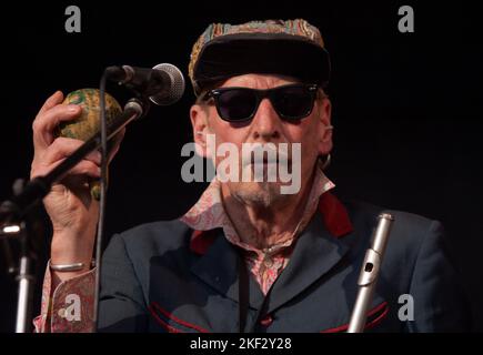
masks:
[[(123, 112), (114, 118), (108, 125), (108, 140), (113, 138), (128, 123), (144, 115), (148, 110), (149, 102), (147, 100), (138, 98), (129, 100), (124, 105)], [(48, 174), (32, 179), (23, 186), (22, 191), (0, 205), (0, 236), (17, 234), (21, 242), (19, 274), (17, 277), (19, 282), (17, 333), (24, 333), (28, 329), (32, 282), (34, 281), (34, 276), (31, 273), (32, 262), (30, 260), (29, 233), (26, 227), (26, 215), (33, 205), (42, 201), (42, 199), (49, 194), (53, 183), (60, 181), (67, 172), (76, 166), (87, 154), (100, 146), (101, 133), (98, 132)]]

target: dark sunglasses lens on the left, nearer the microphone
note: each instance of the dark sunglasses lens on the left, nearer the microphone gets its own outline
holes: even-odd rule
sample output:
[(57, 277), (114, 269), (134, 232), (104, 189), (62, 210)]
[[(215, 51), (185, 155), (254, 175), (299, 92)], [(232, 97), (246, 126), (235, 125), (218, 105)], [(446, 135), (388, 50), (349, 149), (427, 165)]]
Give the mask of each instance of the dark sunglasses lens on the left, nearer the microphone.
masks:
[(220, 116), (231, 122), (250, 119), (256, 106), (256, 95), (251, 90), (225, 90), (219, 93), (217, 100)]

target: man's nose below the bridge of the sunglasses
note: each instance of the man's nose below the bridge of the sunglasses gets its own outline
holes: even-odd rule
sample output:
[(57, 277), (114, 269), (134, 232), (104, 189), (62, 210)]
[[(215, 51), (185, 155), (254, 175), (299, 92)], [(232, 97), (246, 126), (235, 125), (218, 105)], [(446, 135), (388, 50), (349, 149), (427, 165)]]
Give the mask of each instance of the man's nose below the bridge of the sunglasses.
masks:
[(252, 138), (255, 141), (273, 141), (280, 139), (281, 120), (268, 98), (260, 102), (251, 126)]

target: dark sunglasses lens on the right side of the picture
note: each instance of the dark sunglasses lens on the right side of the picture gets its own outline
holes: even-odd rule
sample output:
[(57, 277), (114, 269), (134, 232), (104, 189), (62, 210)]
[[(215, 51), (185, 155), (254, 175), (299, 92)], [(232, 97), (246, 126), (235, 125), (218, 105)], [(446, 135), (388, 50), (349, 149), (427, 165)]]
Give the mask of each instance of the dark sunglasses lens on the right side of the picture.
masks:
[(312, 111), (313, 93), (306, 87), (285, 87), (273, 92), (272, 103), (283, 119), (299, 120)]

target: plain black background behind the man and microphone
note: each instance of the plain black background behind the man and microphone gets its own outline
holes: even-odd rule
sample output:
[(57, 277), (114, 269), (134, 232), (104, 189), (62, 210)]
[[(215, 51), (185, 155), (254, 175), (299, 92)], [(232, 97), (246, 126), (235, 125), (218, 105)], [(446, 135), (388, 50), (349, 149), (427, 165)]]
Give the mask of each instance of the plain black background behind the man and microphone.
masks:
[[(69, 4), (81, 9), (81, 33), (64, 30)], [(404, 4), (414, 9), (414, 33), (398, 30)], [(304, 18), (321, 29), (332, 57), (335, 135), (328, 175), (336, 193), (442, 221), (474, 329), (483, 331), (481, 4), (138, 0), (1, 7), (0, 200), (9, 197), (14, 179), (29, 175), (31, 123), (56, 90), (94, 88), (111, 64), (169, 62), (188, 79), (191, 47), (209, 23)], [(109, 91), (121, 102), (128, 98), (119, 88)], [(153, 108), (129, 126), (111, 164), (107, 235), (180, 216), (205, 187), (180, 176), (181, 146), (192, 140), (193, 98), (188, 87), (180, 103)], [(36, 314), (47, 220), (44, 231), (37, 243)], [(17, 285), (4, 264), (0, 254), (0, 331), (12, 332)]]

